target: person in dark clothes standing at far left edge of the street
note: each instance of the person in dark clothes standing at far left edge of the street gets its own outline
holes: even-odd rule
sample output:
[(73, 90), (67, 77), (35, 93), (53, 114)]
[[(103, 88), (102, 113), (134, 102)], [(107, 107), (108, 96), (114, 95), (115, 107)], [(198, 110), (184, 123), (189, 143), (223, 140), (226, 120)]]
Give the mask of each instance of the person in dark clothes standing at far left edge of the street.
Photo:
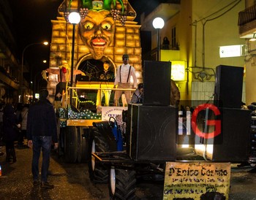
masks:
[(6, 147), (6, 161), (15, 163), (16, 153), (14, 148), (14, 142), (18, 137), (18, 128), (20, 128), (20, 124), (18, 124), (18, 118), (15, 114), (15, 109), (11, 104), (7, 104), (4, 107), (4, 115), (3, 115), (3, 140), (5, 142)]

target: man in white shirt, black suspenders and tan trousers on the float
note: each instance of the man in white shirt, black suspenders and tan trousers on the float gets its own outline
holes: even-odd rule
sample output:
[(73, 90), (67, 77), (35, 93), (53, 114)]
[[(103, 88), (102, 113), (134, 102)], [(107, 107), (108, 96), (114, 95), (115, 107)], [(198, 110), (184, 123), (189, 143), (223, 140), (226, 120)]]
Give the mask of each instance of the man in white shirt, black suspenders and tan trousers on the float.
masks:
[[(121, 66), (118, 66), (118, 68), (117, 68), (116, 79), (114, 82), (114, 88), (116, 88), (116, 86), (117, 86), (117, 88), (130, 89), (131, 88), (130, 77), (132, 77), (133, 78), (133, 88), (135, 89), (137, 87), (137, 77), (135, 74), (135, 68), (128, 64), (129, 55), (124, 54), (122, 58), (123, 58), (123, 64), (121, 64)], [(119, 105), (119, 99), (123, 92), (125, 94), (125, 98), (127, 99), (127, 104), (129, 104), (131, 101), (131, 91), (116, 90), (115, 96), (114, 96), (114, 104), (116, 107)]]

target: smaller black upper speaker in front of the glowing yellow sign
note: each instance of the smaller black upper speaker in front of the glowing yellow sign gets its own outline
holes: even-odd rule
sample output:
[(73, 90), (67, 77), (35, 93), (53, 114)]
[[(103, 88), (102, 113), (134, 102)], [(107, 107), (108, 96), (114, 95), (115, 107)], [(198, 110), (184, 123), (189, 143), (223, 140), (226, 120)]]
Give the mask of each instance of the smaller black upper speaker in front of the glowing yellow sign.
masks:
[(170, 105), (170, 62), (144, 61), (143, 105)]

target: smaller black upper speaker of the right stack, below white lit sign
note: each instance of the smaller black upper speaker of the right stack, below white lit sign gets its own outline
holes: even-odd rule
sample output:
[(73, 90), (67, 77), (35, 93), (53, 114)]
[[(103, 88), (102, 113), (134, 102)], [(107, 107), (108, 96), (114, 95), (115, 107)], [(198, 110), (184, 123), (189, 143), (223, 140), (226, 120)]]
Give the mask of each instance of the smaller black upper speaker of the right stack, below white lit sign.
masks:
[(216, 67), (214, 104), (217, 107), (241, 108), (243, 74), (243, 67)]

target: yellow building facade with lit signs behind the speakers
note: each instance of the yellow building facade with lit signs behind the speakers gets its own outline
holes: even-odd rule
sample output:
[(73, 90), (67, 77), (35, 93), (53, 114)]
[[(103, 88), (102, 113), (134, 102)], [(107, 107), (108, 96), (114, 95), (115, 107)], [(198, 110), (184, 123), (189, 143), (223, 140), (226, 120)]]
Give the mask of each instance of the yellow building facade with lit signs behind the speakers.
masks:
[[(181, 0), (173, 4), (159, 4), (149, 15), (142, 16), (141, 30), (151, 31), (152, 50), (157, 48), (157, 31), (152, 26), (152, 21), (156, 17), (165, 20), (165, 26), (159, 31), (160, 59), (172, 62), (172, 77), (181, 91), (181, 100), (188, 100), (187, 104), (214, 98), (217, 66), (245, 66), (246, 42), (238, 34), (238, 12), (244, 7), (245, 1), (240, 0)], [(170, 42), (169, 50), (162, 49), (165, 36)], [(241, 47), (241, 54), (221, 58), (220, 47), (232, 48), (233, 45)], [(177, 61), (180, 62), (178, 65)], [(182, 76), (177, 79), (176, 73)], [(242, 99), (244, 102), (245, 80), (246, 78)]]

